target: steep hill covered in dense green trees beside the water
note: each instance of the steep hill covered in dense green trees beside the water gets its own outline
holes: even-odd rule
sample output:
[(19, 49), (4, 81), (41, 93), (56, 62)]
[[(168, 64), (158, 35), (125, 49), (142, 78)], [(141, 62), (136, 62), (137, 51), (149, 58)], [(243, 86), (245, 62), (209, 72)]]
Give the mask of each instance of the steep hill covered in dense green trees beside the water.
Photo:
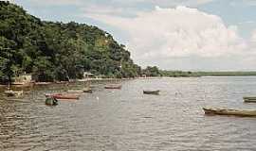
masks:
[(125, 46), (100, 28), (41, 21), (0, 1), (0, 76), (32, 74), (37, 81), (79, 78), (83, 71), (106, 77), (140, 75)]

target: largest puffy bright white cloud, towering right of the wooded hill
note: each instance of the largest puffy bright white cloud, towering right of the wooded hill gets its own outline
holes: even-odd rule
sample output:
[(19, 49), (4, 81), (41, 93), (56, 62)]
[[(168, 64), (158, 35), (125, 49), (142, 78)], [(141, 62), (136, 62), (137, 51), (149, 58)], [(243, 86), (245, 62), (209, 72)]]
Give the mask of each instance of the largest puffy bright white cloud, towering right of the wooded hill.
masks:
[(216, 58), (243, 53), (247, 43), (239, 37), (235, 25), (226, 26), (218, 16), (196, 8), (159, 8), (139, 12), (135, 18), (87, 14), (129, 35), (133, 58), (144, 60)]

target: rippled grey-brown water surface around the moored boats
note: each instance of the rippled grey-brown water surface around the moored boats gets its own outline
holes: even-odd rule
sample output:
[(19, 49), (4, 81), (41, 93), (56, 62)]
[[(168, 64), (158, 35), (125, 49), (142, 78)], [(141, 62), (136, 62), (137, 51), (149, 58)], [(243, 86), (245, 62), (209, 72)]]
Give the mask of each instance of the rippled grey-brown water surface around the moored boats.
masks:
[[(45, 105), (36, 88), (23, 98), (0, 99), (1, 151), (256, 150), (256, 118), (208, 116), (202, 107), (256, 109), (256, 77), (134, 79), (121, 90), (104, 83), (77, 101)], [(82, 84), (71, 87), (82, 88)], [(144, 95), (143, 90), (161, 91)]]

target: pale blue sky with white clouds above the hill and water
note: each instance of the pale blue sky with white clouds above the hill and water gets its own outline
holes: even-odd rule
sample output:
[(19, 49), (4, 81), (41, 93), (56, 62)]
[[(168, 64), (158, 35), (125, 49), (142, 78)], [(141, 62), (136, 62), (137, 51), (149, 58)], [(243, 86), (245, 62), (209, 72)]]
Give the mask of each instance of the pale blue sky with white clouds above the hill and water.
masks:
[(138, 65), (256, 70), (256, 0), (12, 0), (47, 21), (97, 25)]

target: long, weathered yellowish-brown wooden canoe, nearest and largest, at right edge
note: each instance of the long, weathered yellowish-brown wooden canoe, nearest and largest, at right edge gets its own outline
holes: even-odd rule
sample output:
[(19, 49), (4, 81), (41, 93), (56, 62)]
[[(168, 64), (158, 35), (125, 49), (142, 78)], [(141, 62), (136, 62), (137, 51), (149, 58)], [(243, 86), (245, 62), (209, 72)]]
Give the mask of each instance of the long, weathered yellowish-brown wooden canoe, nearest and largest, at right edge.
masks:
[(234, 115), (234, 116), (256, 116), (256, 110), (243, 109), (221, 109), (221, 108), (203, 108), (205, 114), (211, 115)]

